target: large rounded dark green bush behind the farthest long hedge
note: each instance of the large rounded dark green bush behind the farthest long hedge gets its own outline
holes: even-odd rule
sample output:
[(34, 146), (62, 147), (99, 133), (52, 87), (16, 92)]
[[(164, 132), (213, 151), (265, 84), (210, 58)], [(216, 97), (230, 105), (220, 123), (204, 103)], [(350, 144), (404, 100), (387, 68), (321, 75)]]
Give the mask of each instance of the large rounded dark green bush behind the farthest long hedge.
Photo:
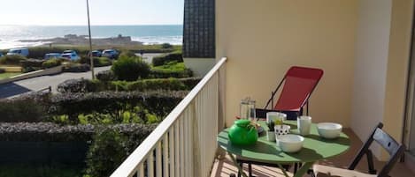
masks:
[(119, 61), (112, 65), (111, 70), (119, 80), (127, 81), (146, 78), (150, 74), (150, 66), (140, 57), (119, 57)]

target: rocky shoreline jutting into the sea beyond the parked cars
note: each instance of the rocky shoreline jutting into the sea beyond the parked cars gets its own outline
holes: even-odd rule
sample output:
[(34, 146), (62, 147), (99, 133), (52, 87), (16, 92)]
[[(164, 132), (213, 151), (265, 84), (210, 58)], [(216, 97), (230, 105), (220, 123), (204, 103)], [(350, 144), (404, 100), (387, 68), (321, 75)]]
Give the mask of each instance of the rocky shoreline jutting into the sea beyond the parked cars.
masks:
[[(21, 42), (44, 42), (49, 44), (58, 44), (58, 45), (88, 45), (88, 35), (76, 35), (76, 34), (67, 34), (63, 38), (52, 38), (44, 40), (20, 40)], [(117, 37), (111, 38), (99, 38), (92, 39), (92, 45), (96, 46), (126, 46), (126, 45), (142, 45), (140, 41), (132, 41), (130, 36), (122, 36), (119, 34)]]

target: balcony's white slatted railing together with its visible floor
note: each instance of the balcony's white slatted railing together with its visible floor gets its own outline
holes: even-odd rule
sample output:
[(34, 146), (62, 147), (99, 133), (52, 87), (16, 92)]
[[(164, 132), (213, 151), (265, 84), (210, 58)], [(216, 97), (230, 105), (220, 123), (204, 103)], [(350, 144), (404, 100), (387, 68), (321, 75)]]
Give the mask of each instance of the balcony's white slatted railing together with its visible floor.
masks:
[[(129, 176), (229, 176), (236, 168), (227, 158), (217, 159), (216, 136), (223, 128), (225, 73), (227, 58), (222, 58), (196, 85), (188, 96), (175, 107), (157, 129), (111, 174), (111, 177)], [(348, 166), (362, 142), (351, 129), (350, 151), (334, 159), (319, 163)], [(381, 166), (379, 161), (375, 166)], [(366, 162), (357, 167), (365, 172)], [(244, 166), (246, 167), (246, 166)], [(245, 168), (246, 170), (246, 168)], [(256, 176), (283, 176), (277, 168), (253, 166)], [(413, 176), (408, 167), (397, 163), (392, 176)]]

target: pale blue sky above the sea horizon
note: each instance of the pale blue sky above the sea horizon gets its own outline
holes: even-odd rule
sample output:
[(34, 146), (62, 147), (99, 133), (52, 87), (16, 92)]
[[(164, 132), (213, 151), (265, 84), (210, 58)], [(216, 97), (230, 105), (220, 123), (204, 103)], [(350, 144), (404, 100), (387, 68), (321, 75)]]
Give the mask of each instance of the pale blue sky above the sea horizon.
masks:
[[(178, 25), (184, 0), (89, 0), (91, 25)], [(87, 25), (86, 0), (9, 0), (0, 25)]]

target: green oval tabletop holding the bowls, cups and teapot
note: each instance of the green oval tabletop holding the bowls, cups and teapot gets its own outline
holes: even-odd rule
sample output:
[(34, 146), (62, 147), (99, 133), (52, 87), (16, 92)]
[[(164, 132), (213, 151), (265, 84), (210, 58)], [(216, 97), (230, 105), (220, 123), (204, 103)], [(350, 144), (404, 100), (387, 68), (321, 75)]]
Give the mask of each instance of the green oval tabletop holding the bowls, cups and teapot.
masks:
[[(291, 134), (298, 134), (296, 121), (286, 121), (291, 126)], [(267, 130), (265, 122), (259, 122)], [(342, 133), (338, 138), (325, 139), (319, 136), (317, 125), (311, 125), (311, 134), (304, 136), (303, 148), (295, 153), (285, 153), (275, 142), (266, 140), (266, 132), (259, 134), (256, 144), (240, 146), (232, 144), (227, 136), (228, 129), (222, 130), (218, 137), (218, 144), (226, 151), (246, 159), (254, 159), (260, 162), (286, 164), (293, 162), (315, 162), (340, 155), (349, 150), (349, 136)]]

